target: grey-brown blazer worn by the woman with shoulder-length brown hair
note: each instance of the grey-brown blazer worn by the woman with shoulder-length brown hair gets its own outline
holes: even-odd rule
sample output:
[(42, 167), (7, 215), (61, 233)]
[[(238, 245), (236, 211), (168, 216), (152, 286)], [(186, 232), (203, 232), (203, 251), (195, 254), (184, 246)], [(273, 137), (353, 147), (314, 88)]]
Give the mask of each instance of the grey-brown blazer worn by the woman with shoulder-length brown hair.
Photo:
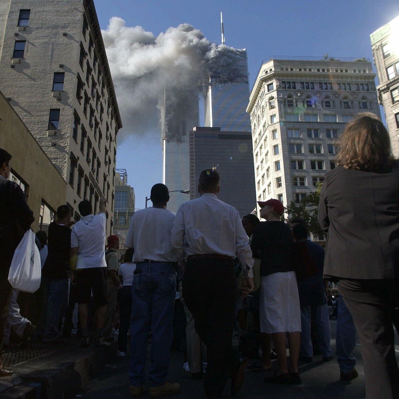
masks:
[(399, 168), (365, 172), (338, 166), (326, 174), (318, 211), (327, 233), (324, 275), (399, 277)]

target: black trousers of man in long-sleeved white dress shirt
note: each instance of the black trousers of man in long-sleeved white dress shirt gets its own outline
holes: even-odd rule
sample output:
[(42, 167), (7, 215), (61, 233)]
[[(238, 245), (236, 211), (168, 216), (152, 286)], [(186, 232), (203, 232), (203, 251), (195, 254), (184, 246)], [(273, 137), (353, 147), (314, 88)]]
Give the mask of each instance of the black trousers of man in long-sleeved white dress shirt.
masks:
[(216, 258), (187, 261), (183, 298), (207, 347), (204, 388), (209, 396), (223, 393), (227, 372), (238, 366), (238, 354), (231, 346), (236, 289), (231, 261)]

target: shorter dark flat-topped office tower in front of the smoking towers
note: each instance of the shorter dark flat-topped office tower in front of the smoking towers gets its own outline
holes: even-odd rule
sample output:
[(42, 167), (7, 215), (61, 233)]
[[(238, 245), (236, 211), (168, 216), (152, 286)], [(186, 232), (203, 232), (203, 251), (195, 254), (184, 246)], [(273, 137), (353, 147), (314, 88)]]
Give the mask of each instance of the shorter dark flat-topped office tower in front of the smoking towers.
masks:
[(190, 131), (190, 199), (198, 198), (199, 174), (215, 168), (220, 174), (221, 201), (233, 205), (241, 217), (256, 207), (251, 132), (222, 132), (219, 127)]

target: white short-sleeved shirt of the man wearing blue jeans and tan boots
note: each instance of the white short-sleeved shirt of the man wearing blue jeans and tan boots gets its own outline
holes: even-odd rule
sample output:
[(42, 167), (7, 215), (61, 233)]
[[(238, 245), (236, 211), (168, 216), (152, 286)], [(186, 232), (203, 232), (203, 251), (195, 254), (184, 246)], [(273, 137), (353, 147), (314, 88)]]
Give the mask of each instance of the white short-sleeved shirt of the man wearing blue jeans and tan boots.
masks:
[(175, 213), (164, 208), (145, 208), (130, 219), (125, 247), (134, 248), (133, 263), (146, 259), (154, 262), (176, 262), (170, 245), (170, 231)]

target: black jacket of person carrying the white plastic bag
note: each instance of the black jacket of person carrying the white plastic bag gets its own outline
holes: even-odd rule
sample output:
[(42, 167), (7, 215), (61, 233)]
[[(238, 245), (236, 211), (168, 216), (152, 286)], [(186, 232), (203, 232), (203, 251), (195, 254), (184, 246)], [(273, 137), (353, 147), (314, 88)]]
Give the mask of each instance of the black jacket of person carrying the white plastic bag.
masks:
[(0, 277), (8, 276), (14, 251), (34, 220), (18, 184), (0, 177)]

